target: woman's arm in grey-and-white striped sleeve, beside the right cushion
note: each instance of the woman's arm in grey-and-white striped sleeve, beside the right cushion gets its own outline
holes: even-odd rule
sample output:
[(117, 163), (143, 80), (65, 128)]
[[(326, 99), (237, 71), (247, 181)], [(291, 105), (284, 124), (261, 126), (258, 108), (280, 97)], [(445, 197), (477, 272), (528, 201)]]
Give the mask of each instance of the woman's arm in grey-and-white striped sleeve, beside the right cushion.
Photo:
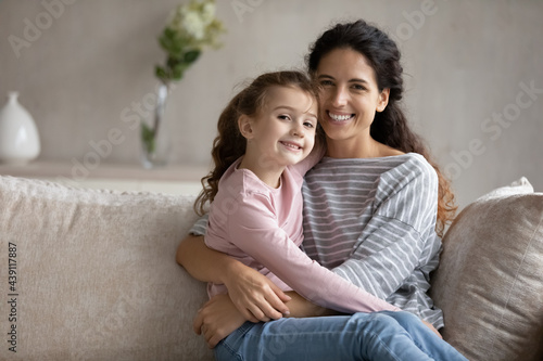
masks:
[(386, 195), (386, 198), (377, 202), (374, 216), (350, 258), (333, 269), (383, 299), (406, 280), (422, 282), (435, 268), (441, 245), (434, 231), (437, 175), (429, 165), (412, 163), (411, 166), (418, 167), (405, 171), (402, 177), (383, 175), (396, 179), (382, 180), (389, 185), (387, 191), (378, 191), (378, 194)]

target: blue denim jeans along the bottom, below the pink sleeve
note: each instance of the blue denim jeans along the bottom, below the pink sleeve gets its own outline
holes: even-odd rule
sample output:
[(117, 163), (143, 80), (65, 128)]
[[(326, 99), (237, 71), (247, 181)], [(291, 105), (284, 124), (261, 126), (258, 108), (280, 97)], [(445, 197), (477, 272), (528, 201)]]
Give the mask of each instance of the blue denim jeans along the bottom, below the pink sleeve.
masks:
[(222, 360), (463, 360), (408, 312), (245, 322), (215, 347)]

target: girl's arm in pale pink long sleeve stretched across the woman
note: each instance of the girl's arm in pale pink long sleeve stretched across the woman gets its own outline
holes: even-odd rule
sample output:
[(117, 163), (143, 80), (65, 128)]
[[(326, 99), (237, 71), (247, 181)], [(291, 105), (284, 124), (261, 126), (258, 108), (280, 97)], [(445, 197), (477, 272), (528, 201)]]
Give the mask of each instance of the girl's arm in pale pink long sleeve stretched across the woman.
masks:
[(312, 260), (278, 227), (268, 203), (262, 194), (239, 199), (226, 225), (230, 242), (321, 307), (345, 313), (399, 310)]

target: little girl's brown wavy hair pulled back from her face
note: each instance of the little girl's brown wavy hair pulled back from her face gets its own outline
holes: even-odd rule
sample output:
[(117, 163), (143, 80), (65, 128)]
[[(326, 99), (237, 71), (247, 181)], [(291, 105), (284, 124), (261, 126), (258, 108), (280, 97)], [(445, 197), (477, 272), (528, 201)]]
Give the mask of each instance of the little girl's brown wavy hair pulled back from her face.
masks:
[(298, 88), (317, 101), (311, 79), (296, 70), (265, 73), (233, 96), (218, 118), (218, 136), (213, 141), (211, 152), (215, 167), (202, 178), (203, 190), (194, 202), (194, 210), (200, 216), (205, 212), (207, 202), (212, 203), (215, 198), (220, 177), (236, 159), (245, 154), (247, 140), (239, 130), (239, 117), (257, 115), (266, 102), (268, 90), (275, 86)]

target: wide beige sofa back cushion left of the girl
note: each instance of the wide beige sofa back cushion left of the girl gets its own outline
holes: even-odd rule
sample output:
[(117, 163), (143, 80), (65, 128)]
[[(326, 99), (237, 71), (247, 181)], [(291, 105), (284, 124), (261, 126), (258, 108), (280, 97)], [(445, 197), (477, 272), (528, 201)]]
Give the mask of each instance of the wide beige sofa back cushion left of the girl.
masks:
[(191, 328), (205, 286), (175, 262), (192, 201), (0, 177), (0, 359), (213, 359)]

